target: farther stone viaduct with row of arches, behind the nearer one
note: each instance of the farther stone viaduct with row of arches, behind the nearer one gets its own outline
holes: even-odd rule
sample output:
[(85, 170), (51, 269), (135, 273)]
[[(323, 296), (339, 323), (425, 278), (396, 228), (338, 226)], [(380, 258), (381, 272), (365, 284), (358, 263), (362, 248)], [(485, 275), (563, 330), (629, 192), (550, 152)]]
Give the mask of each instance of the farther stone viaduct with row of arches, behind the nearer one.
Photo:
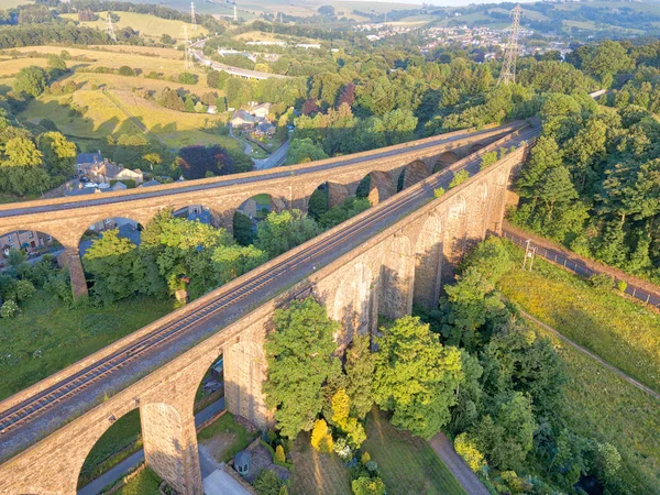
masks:
[(402, 172), (405, 170), (404, 187), (408, 187), (519, 125), (459, 131), (346, 157), (148, 189), (0, 205), (0, 234), (35, 230), (55, 238), (65, 249), (74, 294), (86, 295), (78, 244), (91, 223), (106, 218), (129, 218), (145, 224), (165, 207), (176, 211), (202, 205), (210, 209), (216, 227), (231, 231), (234, 212), (253, 196), (267, 194), (275, 210), (306, 211), (309, 197), (320, 185), (328, 185), (330, 206), (334, 206), (354, 195), (365, 176), (370, 176), (369, 197), (375, 205), (396, 193)]

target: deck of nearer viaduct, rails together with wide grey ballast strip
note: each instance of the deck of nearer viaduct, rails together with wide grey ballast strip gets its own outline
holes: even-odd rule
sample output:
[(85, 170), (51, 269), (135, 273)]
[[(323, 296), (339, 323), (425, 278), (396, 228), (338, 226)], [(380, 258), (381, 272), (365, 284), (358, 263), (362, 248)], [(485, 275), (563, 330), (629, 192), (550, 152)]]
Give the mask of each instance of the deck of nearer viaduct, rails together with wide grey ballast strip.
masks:
[[(492, 147), (518, 145), (537, 134), (525, 129)], [(490, 147), (485, 148), (486, 151)], [(237, 321), (253, 308), (273, 299), (292, 283), (308, 277), (322, 267), (363, 244), (378, 232), (428, 204), (438, 187), (449, 188), (455, 172), (470, 174), (480, 170), (481, 158), (471, 155), (452, 166), (393, 196), (381, 205), (321, 234), (298, 251), (285, 253), (267, 268), (255, 268), (198, 300), (193, 309), (184, 307), (172, 314), (160, 327), (125, 348), (99, 358), (88, 367), (63, 377), (59, 382), (0, 413), (0, 452), (9, 458), (53, 431), (73, 416), (85, 413), (102, 399), (107, 389), (119, 389), (134, 383), (136, 377), (169, 362), (185, 350)], [(307, 288), (301, 288), (306, 293)], [(47, 420), (44, 419), (47, 413)]]

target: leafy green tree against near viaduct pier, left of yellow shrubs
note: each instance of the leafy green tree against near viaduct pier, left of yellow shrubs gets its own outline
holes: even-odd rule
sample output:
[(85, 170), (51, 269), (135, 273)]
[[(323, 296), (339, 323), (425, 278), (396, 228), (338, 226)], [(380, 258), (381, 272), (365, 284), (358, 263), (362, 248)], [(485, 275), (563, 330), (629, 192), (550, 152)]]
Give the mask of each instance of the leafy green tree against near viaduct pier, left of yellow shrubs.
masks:
[(324, 384), (340, 374), (333, 334), (339, 323), (312, 298), (294, 301), (274, 316), (266, 338), (266, 404), (285, 437), (310, 430), (326, 400)]

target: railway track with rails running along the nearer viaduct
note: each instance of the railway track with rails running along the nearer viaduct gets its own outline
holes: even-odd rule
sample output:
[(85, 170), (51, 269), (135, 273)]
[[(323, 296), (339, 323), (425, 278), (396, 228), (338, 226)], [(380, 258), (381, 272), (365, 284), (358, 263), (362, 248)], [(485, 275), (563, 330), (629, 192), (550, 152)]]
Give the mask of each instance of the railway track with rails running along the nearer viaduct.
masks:
[[(515, 132), (505, 138), (507, 143), (503, 143), (502, 145), (510, 146), (512, 144), (520, 143), (528, 138), (532, 138), (535, 133), (535, 129)], [(486, 150), (488, 146), (486, 146)], [(127, 366), (134, 360), (144, 358), (147, 353), (172, 342), (174, 339), (185, 336), (187, 332), (191, 332), (195, 328), (198, 328), (200, 323), (218, 316), (231, 305), (235, 305), (257, 290), (267, 287), (268, 284), (277, 279), (277, 277), (285, 275), (287, 272), (298, 266), (309, 264), (314, 258), (332, 250), (338, 250), (346, 239), (367, 229), (377, 227), (381, 221), (388, 217), (394, 218), (394, 221), (397, 221), (399, 216), (403, 216), (404, 213), (408, 215), (411, 211), (408, 207), (413, 206), (413, 204), (432, 197), (432, 190), (435, 188), (447, 187), (455, 172), (461, 169), (466, 169), (471, 174), (479, 172), (481, 162), (479, 156), (480, 153), (468, 156), (455, 165), (436, 174), (435, 178), (431, 176), (430, 180), (427, 179), (422, 185), (413, 186), (406, 191), (394, 196), (393, 201), (373, 208), (371, 215), (367, 215), (344, 228), (337, 229), (332, 235), (320, 239), (316, 244), (311, 241), (312, 244), (304, 252), (283, 258), (268, 272), (255, 274), (242, 286), (229, 293), (223, 293), (222, 289), (219, 289), (220, 292), (215, 299), (196, 309), (195, 312), (187, 315), (180, 320), (169, 322), (162, 328), (153, 330), (145, 334), (140, 341), (100, 359), (96, 363), (72, 374), (59, 383), (36, 393), (22, 403), (0, 411), (0, 438), (43, 415), (64, 399), (85, 392), (91, 385), (109, 377), (113, 372)]]

